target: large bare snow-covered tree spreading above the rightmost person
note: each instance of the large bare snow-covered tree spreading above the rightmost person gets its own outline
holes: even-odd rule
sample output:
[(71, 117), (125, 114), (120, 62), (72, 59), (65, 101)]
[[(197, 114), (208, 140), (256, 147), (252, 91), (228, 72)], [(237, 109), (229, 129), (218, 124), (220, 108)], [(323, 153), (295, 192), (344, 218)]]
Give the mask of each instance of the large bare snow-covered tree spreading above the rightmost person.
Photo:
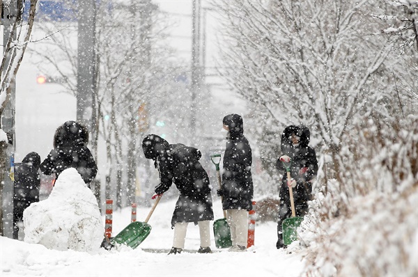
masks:
[[(308, 125), (341, 182), (343, 134), (367, 103), (382, 98), (380, 74), (392, 48), (373, 35), (369, 1), (217, 1), (224, 14), (224, 77), (270, 113), (275, 131)], [(371, 105), (372, 106), (372, 105)], [(274, 128), (274, 127), (273, 127)]]

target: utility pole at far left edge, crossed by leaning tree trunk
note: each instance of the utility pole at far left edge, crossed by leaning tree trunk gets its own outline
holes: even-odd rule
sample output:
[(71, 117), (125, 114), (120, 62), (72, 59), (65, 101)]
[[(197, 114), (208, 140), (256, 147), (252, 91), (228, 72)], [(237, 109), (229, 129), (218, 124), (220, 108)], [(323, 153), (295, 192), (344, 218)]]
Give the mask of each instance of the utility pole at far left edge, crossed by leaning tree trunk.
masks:
[[(3, 4), (4, 5), (4, 4)], [(3, 29), (3, 55), (6, 53), (6, 44), (10, 38), (12, 26), (17, 17), (17, 0), (10, 0), (8, 7), (3, 6), (3, 16), (1, 17), (1, 27)], [(10, 60), (11, 56), (8, 57)], [(6, 64), (8, 61), (6, 62)], [(3, 72), (1, 72), (3, 74)], [(6, 168), (3, 172), (3, 184), (1, 189), (1, 212), (0, 212), (0, 235), (11, 237), (13, 225), (13, 180), (10, 173), (14, 171), (15, 162), (15, 82), (10, 84), (11, 92), (6, 109), (1, 114), (1, 129), (7, 134), (8, 145), (6, 149)], [(3, 201), (6, 199), (6, 201)]]

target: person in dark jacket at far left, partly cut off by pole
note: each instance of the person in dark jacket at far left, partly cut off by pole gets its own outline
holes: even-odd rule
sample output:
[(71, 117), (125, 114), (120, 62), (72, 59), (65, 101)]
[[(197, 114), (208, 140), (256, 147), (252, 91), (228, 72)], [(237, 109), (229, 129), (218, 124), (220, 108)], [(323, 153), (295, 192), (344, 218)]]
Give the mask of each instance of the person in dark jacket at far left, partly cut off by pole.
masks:
[(30, 152), (22, 163), (15, 164), (13, 188), (13, 239), (19, 239), (19, 223), (23, 221), (23, 211), (31, 203), (39, 201), (40, 156)]

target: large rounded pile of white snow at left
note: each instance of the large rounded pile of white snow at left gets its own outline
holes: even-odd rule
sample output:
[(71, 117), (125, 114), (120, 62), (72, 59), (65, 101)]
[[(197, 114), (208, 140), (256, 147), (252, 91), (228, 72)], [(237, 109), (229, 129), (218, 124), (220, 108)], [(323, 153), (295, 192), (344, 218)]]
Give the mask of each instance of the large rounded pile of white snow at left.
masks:
[(75, 168), (61, 173), (49, 198), (25, 209), (23, 221), (24, 242), (49, 249), (94, 251), (102, 243), (98, 203)]

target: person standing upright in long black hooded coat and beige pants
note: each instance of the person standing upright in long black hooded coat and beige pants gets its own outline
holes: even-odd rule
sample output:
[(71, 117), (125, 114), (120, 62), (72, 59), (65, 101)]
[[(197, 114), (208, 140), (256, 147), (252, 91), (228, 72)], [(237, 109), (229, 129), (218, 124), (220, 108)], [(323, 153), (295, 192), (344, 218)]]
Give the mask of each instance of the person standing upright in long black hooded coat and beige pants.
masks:
[(238, 114), (223, 119), (228, 131), (223, 159), (222, 207), (231, 228), (231, 251), (246, 251), (248, 235), (248, 211), (252, 209), (254, 187), (251, 176), (251, 147), (244, 136), (244, 123)]

